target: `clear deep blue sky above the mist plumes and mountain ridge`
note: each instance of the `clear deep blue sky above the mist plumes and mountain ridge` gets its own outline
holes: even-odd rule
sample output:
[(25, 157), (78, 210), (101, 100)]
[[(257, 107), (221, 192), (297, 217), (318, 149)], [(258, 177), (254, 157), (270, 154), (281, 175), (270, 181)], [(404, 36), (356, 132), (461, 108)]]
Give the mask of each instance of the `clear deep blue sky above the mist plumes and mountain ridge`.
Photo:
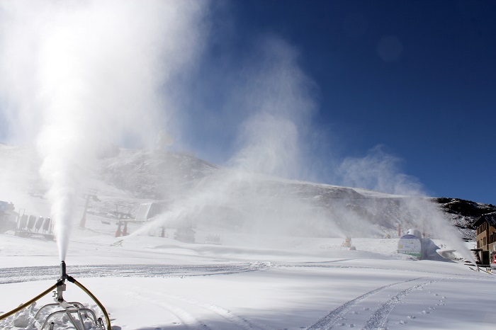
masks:
[[(254, 40), (276, 35), (315, 83), (312, 125), (328, 139), (315, 150), (320, 161), (381, 146), (428, 195), (496, 203), (494, 1), (214, 4), (201, 73), (215, 87), (204, 101), (225, 98), (225, 72), (253, 55)], [(230, 145), (206, 139), (198, 154), (222, 162)], [(321, 181), (337, 183), (324, 172)]]

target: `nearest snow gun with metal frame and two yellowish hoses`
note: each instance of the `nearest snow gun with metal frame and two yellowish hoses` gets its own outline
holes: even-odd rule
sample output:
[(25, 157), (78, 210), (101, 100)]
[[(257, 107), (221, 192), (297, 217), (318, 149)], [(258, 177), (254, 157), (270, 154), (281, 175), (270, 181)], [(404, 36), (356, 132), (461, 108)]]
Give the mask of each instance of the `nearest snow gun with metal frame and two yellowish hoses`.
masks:
[[(66, 280), (77, 285), (77, 287), (83, 290), (86, 295), (91, 297), (96, 305), (100, 307), (103, 318), (102, 316), (96, 317), (96, 312), (89, 307), (85, 307), (81, 304), (81, 302), (67, 302), (64, 300), (63, 292), (66, 290)], [(50, 288), (41, 292), (40, 295), (37, 295), (25, 304), (11, 310), (11, 312), (0, 315), (0, 320), (7, 319), (8, 317), (14, 315), (13, 323), (16, 325), (16, 322), (18, 322), (18, 318), (16, 318), (16, 315), (18, 315), (16, 314), (17, 312), (33, 305), (33, 303), (41, 297), (47, 295), (52, 290), (54, 290), (53, 297), (55, 303), (40, 307), (40, 309), (35, 312), (34, 317), (24, 313), (21, 323), (33, 322), (33, 327), (38, 330), (54, 330), (60, 329), (60, 327), (64, 329), (69, 328), (76, 330), (112, 330), (111, 321), (105, 307), (101, 305), (101, 302), (99, 302), (93, 293), (85, 288), (84, 285), (79, 283), (72, 276), (67, 275), (65, 261), (60, 263), (60, 278), (57, 280), (55, 285), (52, 285)], [(31, 307), (30, 312), (34, 312), (34, 305)], [(26, 326), (29, 326), (29, 324), (26, 324)]]

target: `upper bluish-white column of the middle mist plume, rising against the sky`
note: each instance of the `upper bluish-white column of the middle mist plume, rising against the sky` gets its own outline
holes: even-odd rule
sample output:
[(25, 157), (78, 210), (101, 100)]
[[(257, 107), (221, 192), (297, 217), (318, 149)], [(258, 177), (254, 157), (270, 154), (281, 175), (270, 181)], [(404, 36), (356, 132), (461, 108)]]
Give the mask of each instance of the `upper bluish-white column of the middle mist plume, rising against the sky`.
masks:
[(313, 81), (298, 65), (298, 52), (269, 36), (257, 44), (245, 67), (243, 83), (230, 106), (249, 113), (237, 136), (238, 152), (230, 164), (269, 175), (298, 178), (303, 172), (316, 105)]

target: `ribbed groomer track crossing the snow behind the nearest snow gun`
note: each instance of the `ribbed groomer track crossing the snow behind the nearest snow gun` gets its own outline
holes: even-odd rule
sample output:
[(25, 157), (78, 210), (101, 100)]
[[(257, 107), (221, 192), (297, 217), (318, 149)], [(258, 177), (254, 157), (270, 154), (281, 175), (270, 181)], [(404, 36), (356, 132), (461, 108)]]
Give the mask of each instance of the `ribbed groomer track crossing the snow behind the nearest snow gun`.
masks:
[[(67, 271), (75, 278), (142, 277), (167, 278), (184, 276), (228, 275), (247, 271), (262, 271), (270, 263), (229, 263), (205, 265), (72, 265)], [(53, 280), (60, 274), (58, 266), (0, 268), (0, 284), (36, 280)]]

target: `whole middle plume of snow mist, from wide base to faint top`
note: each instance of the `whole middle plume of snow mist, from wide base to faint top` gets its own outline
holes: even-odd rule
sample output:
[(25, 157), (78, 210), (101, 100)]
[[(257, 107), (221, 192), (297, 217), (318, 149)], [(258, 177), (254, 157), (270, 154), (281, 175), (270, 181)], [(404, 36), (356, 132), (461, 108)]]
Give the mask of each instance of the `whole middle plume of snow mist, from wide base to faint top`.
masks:
[(269, 36), (257, 47), (256, 55), (244, 62), (236, 84), (226, 91), (227, 104), (239, 119), (236, 151), (227, 161), (230, 169), (202, 181), (184, 200), (175, 200), (164, 215), (134, 234), (194, 221), (252, 234), (340, 236), (325, 212), (289, 196), (280, 179), (274, 180), (298, 177), (303, 170), (305, 140), (315, 113), (310, 93), (314, 86), (287, 42)]

